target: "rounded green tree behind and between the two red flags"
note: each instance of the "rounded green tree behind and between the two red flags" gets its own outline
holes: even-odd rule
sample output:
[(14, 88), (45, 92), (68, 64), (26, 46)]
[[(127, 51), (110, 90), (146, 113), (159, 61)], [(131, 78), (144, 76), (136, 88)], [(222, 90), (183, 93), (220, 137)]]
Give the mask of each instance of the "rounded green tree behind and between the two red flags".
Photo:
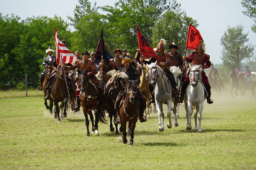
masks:
[[(196, 20), (187, 17), (185, 12), (164, 13), (163, 19), (158, 20), (153, 28), (153, 47), (156, 47), (161, 38), (164, 38), (169, 43), (174, 41), (180, 47), (179, 51), (184, 52), (189, 23), (195, 27), (198, 25)], [(168, 46), (165, 49), (168, 49)]]

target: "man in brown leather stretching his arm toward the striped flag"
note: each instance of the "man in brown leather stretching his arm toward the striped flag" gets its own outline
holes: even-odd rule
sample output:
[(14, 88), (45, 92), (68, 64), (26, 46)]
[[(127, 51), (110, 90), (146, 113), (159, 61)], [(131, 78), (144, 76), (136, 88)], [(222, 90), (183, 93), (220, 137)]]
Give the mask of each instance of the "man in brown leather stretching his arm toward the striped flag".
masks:
[[(77, 68), (78, 72), (81, 72), (81, 71), (87, 69), (87, 75), (90, 76), (90, 80), (92, 80), (92, 82), (94, 83), (94, 85), (98, 89), (98, 95), (99, 95), (99, 98), (100, 98), (102, 108), (104, 110), (106, 110), (107, 109), (107, 103), (106, 103), (106, 101), (103, 97), (103, 90), (102, 90), (102, 87), (100, 85), (100, 80), (98, 80), (95, 77), (95, 74), (98, 73), (97, 72), (98, 68), (96, 67), (95, 63), (92, 60), (88, 60), (89, 53), (86, 50), (82, 53), (82, 56), (83, 56), (83, 60), (76, 60), (76, 62), (73, 66), (66, 66), (64, 64), (61, 64), (61, 67), (62, 68), (67, 68), (67, 70), (75, 70)], [(78, 98), (78, 97), (79, 96), (76, 96), (76, 98)], [(76, 100), (74, 110), (78, 109), (78, 101), (80, 101), (80, 100)]]

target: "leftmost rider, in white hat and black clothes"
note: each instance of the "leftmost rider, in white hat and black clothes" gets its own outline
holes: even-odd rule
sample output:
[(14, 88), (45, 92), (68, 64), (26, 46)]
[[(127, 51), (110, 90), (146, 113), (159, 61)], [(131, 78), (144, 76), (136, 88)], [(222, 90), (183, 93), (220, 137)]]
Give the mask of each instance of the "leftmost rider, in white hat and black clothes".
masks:
[(47, 53), (48, 56), (44, 58), (44, 62), (42, 63), (42, 65), (44, 66), (44, 71), (42, 72), (42, 74), (40, 76), (41, 87), (42, 87), (42, 82), (44, 81), (44, 78), (46, 75), (46, 66), (52, 65), (55, 68), (57, 67), (56, 59), (55, 59), (55, 56), (53, 55), (53, 52), (54, 52), (54, 50), (48, 45), (48, 49), (45, 50), (45, 53)]

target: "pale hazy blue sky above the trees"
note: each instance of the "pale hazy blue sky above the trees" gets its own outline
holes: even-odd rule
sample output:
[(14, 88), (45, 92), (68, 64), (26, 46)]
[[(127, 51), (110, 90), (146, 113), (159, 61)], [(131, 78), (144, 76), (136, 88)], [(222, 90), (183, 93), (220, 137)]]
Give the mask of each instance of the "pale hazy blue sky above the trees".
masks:
[[(98, 6), (111, 5), (117, 0), (90, 0), (92, 3), (97, 2)], [(242, 13), (245, 10), (241, 5), (241, 0), (177, 0), (181, 3), (181, 10), (185, 10), (189, 17), (197, 20), (200, 31), (205, 42), (206, 53), (210, 55), (210, 60), (215, 63), (221, 63), (220, 59), (222, 46), (220, 38), (227, 30), (228, 25), (234, 27), (242, 24), (244, 33), (248, 33), (249, 43), (256, 44), (256, 33), (251, 31), (253, 19)], [(14, 13), (21, 19), (32, 16), (53, 17), (54, 14), (64, 20), (67, 16), (73, 17), (73, 10), (78, 4), (78, 0), (0, 0), (0, 13), (7, 15)], [(58, 7), (56, 10), (55, 7)], [(163, 37), (164, 38), (164, 37)], [(256, 53), (256, 50), (254, 50)], [(180, 52), (184, 53), (184, 52)]]

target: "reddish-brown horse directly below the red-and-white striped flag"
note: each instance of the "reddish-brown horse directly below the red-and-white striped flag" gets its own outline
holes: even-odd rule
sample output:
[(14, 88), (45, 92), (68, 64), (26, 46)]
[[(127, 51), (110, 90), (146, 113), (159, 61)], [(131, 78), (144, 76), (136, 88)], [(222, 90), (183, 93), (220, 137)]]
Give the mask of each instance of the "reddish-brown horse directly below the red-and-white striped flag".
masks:
[(58, 117), (58, 122), (61, 122), (61, 119), (59, 117), (59, 102), (64, 102), (64, 112), (63, 112), (63, 117), (67, 117), (67, 112), (66, 112), (66, 104), (68, 102), (68, 89), (66, 86), (66, 81), (64, 79), (64, 71), (59, 65), (57, 67), (56, 71), (56, 80), (54, 81), (51, 89), (51, 98), (54, 102), (54, 118)]

